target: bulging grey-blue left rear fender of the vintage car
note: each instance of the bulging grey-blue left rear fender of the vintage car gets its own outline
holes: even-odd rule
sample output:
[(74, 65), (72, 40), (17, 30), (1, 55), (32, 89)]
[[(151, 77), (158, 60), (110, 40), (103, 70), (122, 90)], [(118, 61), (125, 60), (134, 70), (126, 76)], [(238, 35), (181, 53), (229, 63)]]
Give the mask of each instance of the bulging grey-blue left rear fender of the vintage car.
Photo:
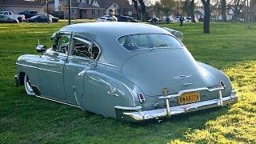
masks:
[[(85, 93), (78, 98), (82, 109), (116, 118), (114, 106), (138, 106), (138, 98), (134, 96), (138, 87), (114, 69), (100, 66), (86, 71)], [(116, 89), (113, 94), (117, 95), (108, 94), (113, 88)]]

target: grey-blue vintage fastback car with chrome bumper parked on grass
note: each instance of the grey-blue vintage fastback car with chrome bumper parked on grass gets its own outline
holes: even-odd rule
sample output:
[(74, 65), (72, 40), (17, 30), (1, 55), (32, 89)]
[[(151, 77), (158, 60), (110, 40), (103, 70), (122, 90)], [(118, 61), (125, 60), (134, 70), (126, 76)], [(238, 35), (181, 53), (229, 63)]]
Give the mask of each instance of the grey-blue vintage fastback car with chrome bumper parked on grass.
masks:
[(238, 101), (230, 79), (194, 60), (158, 26), (94, 22), (65, 26), (53, 46), (18, 58), (26, 93), (129, 122), (167, 118)]

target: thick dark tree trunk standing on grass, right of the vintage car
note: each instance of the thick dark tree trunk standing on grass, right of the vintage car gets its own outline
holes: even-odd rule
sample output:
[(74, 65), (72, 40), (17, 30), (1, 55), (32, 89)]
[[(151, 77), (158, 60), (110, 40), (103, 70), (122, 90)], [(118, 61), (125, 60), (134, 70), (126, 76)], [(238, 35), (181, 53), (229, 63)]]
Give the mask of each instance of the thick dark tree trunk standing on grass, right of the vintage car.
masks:
[(205, 14), (203, 16), (203, 33), (210, 33), (210, 0), (201, 0), (202, 5), (205, 10)]

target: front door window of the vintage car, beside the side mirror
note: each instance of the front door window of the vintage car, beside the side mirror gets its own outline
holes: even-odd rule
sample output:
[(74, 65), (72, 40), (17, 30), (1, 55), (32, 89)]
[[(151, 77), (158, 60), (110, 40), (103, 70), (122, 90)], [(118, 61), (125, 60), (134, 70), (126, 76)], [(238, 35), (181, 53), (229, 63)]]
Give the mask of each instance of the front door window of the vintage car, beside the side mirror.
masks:
[(70, 45), (70, 35), (58, 35), (54, 37), (52, 50), (67, 54)]

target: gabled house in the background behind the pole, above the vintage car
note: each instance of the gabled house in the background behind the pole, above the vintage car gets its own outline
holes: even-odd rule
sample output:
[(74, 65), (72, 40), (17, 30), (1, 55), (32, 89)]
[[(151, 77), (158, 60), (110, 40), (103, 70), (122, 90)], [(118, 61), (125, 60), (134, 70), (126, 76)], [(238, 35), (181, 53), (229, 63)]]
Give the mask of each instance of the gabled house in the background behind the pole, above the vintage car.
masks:
[[(68, 14), (65, 0), (54, 0), (51, 10)], [(99, 18), (103, 15), (132, 15), (133, 6), (128, 0), (71, 0), (71, 18)]]

